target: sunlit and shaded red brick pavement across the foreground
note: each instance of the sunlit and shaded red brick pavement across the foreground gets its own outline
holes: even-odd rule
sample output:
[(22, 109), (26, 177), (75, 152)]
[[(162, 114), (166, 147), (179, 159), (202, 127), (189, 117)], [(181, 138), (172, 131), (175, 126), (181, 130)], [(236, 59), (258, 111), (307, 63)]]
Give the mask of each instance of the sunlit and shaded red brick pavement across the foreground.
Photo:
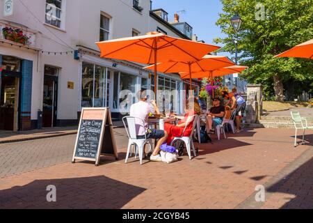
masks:
[[(214, 145), (196, 145), (200, 155), (163, 164), (104, 157), (100, 167), (66, 162), (0, 179), (0, 208), (250, 208), (257, 185), (287, 174), (268, 188), (257, 208), (313, 208), (311, 141), (293, 147), (293, 130), (255, 129)], [(119, 151), (125, 157), (125, 149)], [(298, 167), (289, 167), (294, 164)], [(296, 168), (296, 169), (295, 169)], [(298, 183), (297, 183), (298, 182)], [(46, 201), (47, 185), (56, 185), (57, 202)], [(296, 191), (297, 192), (296, 192)], [(286, 194), (284, 199), (280, 194)]]

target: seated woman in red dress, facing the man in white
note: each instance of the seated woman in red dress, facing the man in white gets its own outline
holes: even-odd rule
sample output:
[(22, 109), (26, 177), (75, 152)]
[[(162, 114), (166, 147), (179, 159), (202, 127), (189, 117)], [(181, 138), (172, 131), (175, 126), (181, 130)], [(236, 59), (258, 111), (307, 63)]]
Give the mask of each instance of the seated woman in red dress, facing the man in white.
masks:
[[(166, 130), (166, 132), (168, 132), (168, 145), (172, 143), (172, 140), (175, 137), (189, 137), (193, 133), (193, 116), (195, 114), (201, 114), (201, 108), (198, 100), (196, 100), (195, 98), (190, 98), (186, 105), (185, 112), (186, 114), (184, 117), (175, 116), (175, 118), (181, 119), (177, 125), (171, 125), (170, 123), (164, 124), (164, 129)], [(184, 132), (185, 127), (186, 130)]]

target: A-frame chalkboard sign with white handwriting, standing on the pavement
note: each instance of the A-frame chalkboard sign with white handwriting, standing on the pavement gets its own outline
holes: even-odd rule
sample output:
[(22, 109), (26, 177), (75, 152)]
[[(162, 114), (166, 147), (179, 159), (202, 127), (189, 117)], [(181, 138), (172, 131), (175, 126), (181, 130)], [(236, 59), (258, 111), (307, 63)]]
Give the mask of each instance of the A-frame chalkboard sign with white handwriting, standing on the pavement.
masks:
[(118, 160), (109, 108), (83, 108), (72, 163), (88, 160), (98, 166), (101, 155)]

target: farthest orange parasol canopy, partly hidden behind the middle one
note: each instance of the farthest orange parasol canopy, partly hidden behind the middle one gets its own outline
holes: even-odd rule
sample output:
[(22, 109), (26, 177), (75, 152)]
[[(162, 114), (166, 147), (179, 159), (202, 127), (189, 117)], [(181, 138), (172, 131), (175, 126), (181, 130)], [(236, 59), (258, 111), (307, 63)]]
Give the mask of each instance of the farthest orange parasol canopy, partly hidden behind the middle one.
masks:
[[(248, 67), (246, 66), (230, 66), (226, 68), (220, 68), (217, 70), (207, 71), (207, 72), (192, 72), (191, 77), (192, 78), (207, 78), (207, 77), (220, 77), (220, 76), (226, 76), (226, 75), (232, 75), (237, 72), (243, 72), (243, 70), (246, 70)], [(189, 73), (188, 72), (179, 72), (180, 77), (182, 79), (188, 79)]]

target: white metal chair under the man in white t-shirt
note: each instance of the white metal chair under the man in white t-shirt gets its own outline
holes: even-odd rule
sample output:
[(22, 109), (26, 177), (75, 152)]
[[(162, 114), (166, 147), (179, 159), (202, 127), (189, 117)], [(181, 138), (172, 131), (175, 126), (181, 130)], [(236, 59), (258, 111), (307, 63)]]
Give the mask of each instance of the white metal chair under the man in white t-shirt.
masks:
[[(147, 139), (147, 136), (145, 136), (145, 139), (137, 139), (136, 125), (138, 124), (135, 123), (136, 119), (140, 121), (140, 126), (145, 128), (145, 121), (142, 118), (134, 116), (126, 116), (122, 118), (127, 132), (127, 136), (129, 138), (125, 163), (127, 163), (129, 156), (131, 156), (131, 148), (133, 148), (134, 146), (135, 158), (137, 158), (137, 154), (139, 153), (139, 160), (141, 161), (141, 164), (143, 164), (143, 148), (145, 144), (149, 144), (149, 150), (152, 151), (152, 139)], [(127, 125), (125, 123), (125, 120), (127, 122)]]

